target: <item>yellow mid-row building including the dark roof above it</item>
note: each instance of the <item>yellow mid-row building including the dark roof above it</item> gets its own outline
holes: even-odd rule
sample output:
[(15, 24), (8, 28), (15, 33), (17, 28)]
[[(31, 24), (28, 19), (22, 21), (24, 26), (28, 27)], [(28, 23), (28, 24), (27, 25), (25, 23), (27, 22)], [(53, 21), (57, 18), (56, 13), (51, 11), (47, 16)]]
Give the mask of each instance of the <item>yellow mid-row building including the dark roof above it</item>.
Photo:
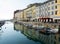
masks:
[(40, 3), (34, 3), (34, 4), (30, 4), (27, 6), (27, 8), (24, 9), (24, 19), (31, 21), (36, 19), (37, 17), (37, 6), (39, 6)]

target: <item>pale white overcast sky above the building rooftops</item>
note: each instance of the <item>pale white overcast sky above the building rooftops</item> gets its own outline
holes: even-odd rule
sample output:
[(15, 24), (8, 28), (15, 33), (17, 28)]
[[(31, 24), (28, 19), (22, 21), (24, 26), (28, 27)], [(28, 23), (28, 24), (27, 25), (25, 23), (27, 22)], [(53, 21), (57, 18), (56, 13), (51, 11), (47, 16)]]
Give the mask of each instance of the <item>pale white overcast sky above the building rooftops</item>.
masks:
[(47, 0), (0, 0), (0, 20), (12, 19), (15, 10), (22, 10), (29, 4), (44, 1)]

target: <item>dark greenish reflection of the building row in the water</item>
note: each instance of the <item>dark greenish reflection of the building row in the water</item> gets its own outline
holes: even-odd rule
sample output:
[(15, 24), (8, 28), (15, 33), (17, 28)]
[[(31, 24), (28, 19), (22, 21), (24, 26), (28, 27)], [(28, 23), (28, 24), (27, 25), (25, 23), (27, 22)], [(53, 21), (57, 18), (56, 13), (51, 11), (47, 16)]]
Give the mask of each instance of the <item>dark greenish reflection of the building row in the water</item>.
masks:
[(16, 30), (20, 30), (30, 40), (43, 44), (60, 44), (60, 34), (41, 34), (39, 30), (28, 29), (23, 25), (15, 24)]

